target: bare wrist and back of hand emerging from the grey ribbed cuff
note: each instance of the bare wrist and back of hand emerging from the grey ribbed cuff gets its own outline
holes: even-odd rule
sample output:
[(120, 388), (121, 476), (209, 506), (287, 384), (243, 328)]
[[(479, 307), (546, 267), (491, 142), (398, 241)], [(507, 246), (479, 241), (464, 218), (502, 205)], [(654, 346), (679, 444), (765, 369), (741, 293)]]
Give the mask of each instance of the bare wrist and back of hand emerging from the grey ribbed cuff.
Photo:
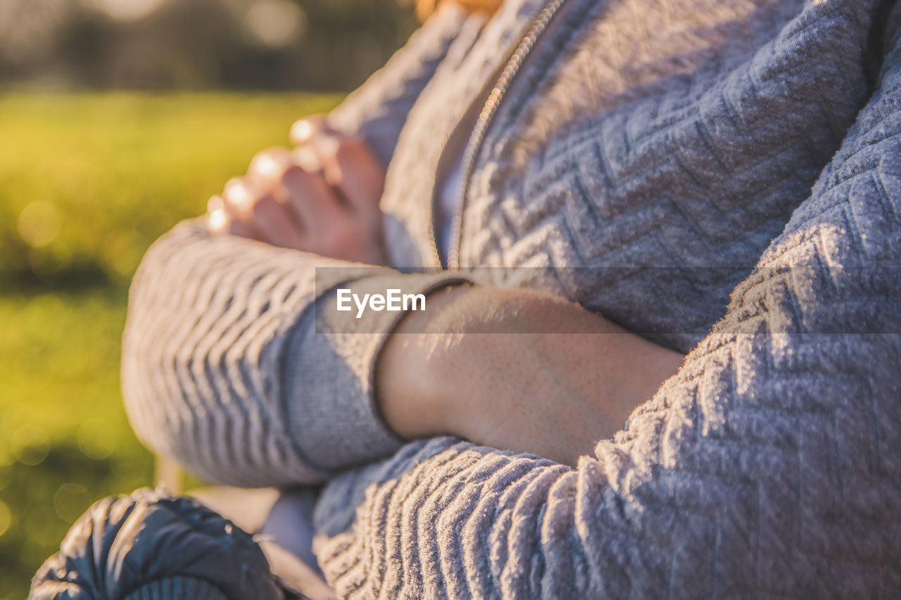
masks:
[(376, 373), (407, 439), (453, 434), (575, 465), (684, 358), (560, 298), (456, 287), (405, 315)]

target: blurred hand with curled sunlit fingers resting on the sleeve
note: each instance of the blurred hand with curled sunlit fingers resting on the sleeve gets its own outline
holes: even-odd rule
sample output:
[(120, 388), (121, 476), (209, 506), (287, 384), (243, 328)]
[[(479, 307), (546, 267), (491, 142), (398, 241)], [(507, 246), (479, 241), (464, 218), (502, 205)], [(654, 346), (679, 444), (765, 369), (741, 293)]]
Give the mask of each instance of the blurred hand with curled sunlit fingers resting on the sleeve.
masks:
[(385, 173), (369, 146), (314, 120), (295, 123), (291, 138), (294, 150), (263, 150), (245, 177), (210, 199), (210, 231), (385, 264), (378, 208)]

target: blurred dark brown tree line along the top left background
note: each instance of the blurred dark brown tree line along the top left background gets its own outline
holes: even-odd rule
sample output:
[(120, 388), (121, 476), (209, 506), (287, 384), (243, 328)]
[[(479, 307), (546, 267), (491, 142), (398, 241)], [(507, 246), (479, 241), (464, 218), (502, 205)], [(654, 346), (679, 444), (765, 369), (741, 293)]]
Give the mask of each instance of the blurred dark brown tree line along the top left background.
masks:
[(0, 83), (350, 90), (415, 26), (411, 0), (0, 0)]

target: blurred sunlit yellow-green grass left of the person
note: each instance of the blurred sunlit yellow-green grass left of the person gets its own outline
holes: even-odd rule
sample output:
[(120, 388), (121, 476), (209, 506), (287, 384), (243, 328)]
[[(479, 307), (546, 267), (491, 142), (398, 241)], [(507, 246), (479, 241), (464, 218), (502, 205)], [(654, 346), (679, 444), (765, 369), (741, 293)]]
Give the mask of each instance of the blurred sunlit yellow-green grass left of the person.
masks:
[(119, 389), (141, 255), (338, 95), (0, 95), (0, 600), (96, 499), (152, 484)]

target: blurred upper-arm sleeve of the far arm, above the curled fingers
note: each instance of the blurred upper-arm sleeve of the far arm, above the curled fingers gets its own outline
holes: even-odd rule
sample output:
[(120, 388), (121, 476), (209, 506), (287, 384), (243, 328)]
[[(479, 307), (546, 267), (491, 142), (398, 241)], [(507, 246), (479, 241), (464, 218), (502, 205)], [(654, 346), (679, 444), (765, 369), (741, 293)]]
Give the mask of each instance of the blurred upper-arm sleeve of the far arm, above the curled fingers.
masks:
[(329, 114), (329, 125), (340, 132), (362, 135), (387, 165), (406, 115), (441, 59), (461, 29), (478, 26), (480, 20), (478, 15), (468, 16), (455, 3), (442, 3), (383, 68)]

